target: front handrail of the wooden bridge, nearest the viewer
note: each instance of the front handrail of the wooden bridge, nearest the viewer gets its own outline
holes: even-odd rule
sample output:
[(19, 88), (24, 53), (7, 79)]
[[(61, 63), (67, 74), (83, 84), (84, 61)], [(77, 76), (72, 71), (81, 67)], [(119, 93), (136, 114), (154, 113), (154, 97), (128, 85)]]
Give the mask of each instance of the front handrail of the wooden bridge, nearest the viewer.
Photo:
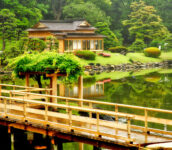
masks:
[[(28, 103), (34, 103), (34, 104), (40, 104), (40, 105), (43, 105), (45, 107), (45, 111), (42, 115), (45, 116), (44, 119), (41, 119), (42, 121), (45, 121), (46, 125), (49, 125), (49, 123), (51, 124), (51, 122), (48, 121), (48, 117), (49, 117), (49, 111), (51, 110), (48, 110), (48, 107), (51, 106), (52, 108), (62, 108), (62, 109), (65, 109), (66, 110), (66, 115), (68, 116), (66, 119), (68, 120), (68, 125), (69, 125), (69, 130), (72, 130), (72, 128), (75, 130), (79, 130), (79, 131), (86, 131), (86, 132), (89, 132), (89, 133), (94, 133), (98, 136), (101, 136), (101, 135), (105, 135), (105, 136), (109, 136), (109, 137), (114, 137), (114, 138), (118, 138), (118, 139), (121, 139), (121, 140), (125, 140), (127, 142), (131, 142), (132, 139), (131, 139), (131, 119), (133, 118), (132, 115), (126, 115), (126, 114), (122, 114), (122, 113), (115, 113), (115, 112), (112, 112), (112, 111), (104, 111), (104, 110), (99, 110), (99, 109), (91, 109), (91, 108), (84, 108), (84, 107), (79, 107), (79, 106), (69, 106), (69, 105), (64, 105), (64, 104), (56, 104), (56, 103), (50, 103), (50, 102), (40, 102), (40, 101), (37, 101), (37, 100), (27, 100), (27, 99), (21, 99), (21, 98), (14, 98), (14, 97), (6, 97), (6, 96), (0, 96), (0, 100), (3, 101), (3, 104), (4, 104), (4, 110), (3, 110), (3, 114), (4, 114), (4, 117), (8, 117), (10, 115), (12, 115), (14, 118), (15, 116), (18, 116), (18, 115), (15, 115), (15, 114), (11, 114), (10, 112), (8, 112), (8, 109), (16, 109), (16, 110), (19, 110), (21, 111), (21, 109), (19, 108), (14, 108), (14, 107), (9, 107), (10, 105), (12, 106), (18, 106), (18, 105), (15, 105), (16, 102), (19, 102), (19, 104), (22, 104), (23, 106), (21, 106), (22, 108), (22, 116), (24, 121), (27, 121), (27, 119), (30, 120), (30, 117), (27, 116), (27, 113), (34, 113), (33, 110), (29, 110), (27, 109), (29, 106), (27, 105)], [(15, 103), (12, 103), (12, 101), (14, 101)], [(9, 103), (8, 103), (9, 102)], [(8, 106), (9, 105), (9, 106)], [(34, 109), (34, 108), (33, 108)], [(35, 108), (36, 109), (36, 108)], [(72, 114), (72, 110), (77, 110), (77, 111), (83, 111), (83, 112), (89, 112), (89, 113), (95, 113), (96, 114), (96, 118), (92, 118), (90, 116), (85, 116), (87, 117), (88, 119), (92, 119), (92, 121), (94, 122), (87, 122), (88, 119), (84, 120), (83, 118), (80, 118), (79, 120), (76, 120), (76, 121), (80, 121), (80, 122), (86, 122), (86, 123), (91, 123), (91, 124), (95, 124), (96, 125), (96, 131), (94, 129), (92, 129), (91, 131), (88, 131), (88, 129), (79, 129), (76, 125), (72, 125), (72, 121), (74, 119), (74, 116), (76, 117), (76, 115), (73, 115)], [(37, 113), (37, 111), (35, 111), (35, 113)], [(57, 113), (57, 112), (54, 112), (54, 113)], [(38, 113), (39, 114), (39, 113)], [(63, 113), (62, 113), (63, 114)], [(62, 115), (60, 114), (60, 116)], [(117, 136), (117, 135), (113, 135), (112, 133), (104, 133), (104, 132), (101, 132), (100, 131), (100, 127), (101, 126), (107, 126), (109, 123), (115, 123), (115, 122), (112, 122), (112, 120), (107, 120), (106, 121), (106, 124), (103, 124), (103, 120), (100, 118), (100, 115), (103, 114), (103, 115), (109, 115), (109, 116), (119, 116), (119, 117), (122, 117), (122, 118), (126, 118), (126, 123), (123, 123), (124, 125), (122, 124), (119, 124), (118, 127), (115, 127), (114, 125), (111, 125), (111, 129), (122, 129), (122, 130), (126, 130), (127, 132), (127, 135), (128, 137), (123, 137), (123, 136)], [(56, 116), (57, 118), (59, 118), (59, 116)], [(84, 116), (80, 116), (80, 117), (84, 117)], [(34, 118), (31, 118), (31, 119), (34, 119)], [(38, 121), (38, 119), (35, 119)], [(54, 122), (55, 123), (55, 122)]]

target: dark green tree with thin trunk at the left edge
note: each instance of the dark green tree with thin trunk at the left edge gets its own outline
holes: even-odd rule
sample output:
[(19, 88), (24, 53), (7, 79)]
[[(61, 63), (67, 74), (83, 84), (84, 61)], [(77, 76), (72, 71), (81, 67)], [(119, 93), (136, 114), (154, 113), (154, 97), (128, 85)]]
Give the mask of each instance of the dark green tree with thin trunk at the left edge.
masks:
[(9, 9), (0, 11), (0, 37), (2, 38), (2, 51), (6, 46), (6, 40), (10, 40), (16, 35), (16, 18)]

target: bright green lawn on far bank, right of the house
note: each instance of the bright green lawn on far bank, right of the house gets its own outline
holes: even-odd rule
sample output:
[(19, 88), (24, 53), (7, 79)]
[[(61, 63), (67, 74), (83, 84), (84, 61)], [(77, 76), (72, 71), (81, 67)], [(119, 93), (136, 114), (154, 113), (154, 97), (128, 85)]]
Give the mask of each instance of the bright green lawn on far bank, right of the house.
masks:
[[(105, 52), (106, 53), (106, 52)], [(108, 52), (109, 53), (109, 52)], [(84, 60), (80, 61), (87, 65), (89, 63), (100, 63), (101, 65), (112, 64), (127, 64), (131, 61), (139, 61), (141, 63), (151, 63), (151, 62), (162, 62), (164, 60), (172, 60), (172, 52), (163, 52), (159, 58), (146, 57), (143, 53), (128, 53), (126, 56), (119, 53), (109, 53), (111, 57), (96, 56), (95, 60)]]

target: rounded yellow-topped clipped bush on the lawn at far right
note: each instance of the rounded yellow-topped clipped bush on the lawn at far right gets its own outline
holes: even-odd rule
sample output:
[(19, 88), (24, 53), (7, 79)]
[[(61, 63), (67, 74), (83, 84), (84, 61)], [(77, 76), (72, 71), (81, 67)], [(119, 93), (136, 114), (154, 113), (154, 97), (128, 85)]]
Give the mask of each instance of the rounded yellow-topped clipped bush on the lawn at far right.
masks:
[(148, 47), (144, 50), (144, 54), (147, 56), (147, 57), (154, 57), (154, 58), (157, 58), (161, 55), (161, 51), (159, 48), (157, 47)]

